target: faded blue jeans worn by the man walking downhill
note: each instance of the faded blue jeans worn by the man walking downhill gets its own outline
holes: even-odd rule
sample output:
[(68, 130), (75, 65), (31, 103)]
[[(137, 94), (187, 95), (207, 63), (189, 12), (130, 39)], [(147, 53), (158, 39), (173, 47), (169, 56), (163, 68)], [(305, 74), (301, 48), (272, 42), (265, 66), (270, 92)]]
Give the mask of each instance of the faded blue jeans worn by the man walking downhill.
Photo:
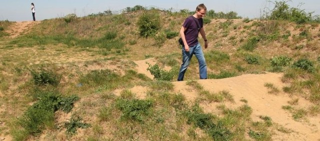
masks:
[(200, 43), (197, 43), (196, 45), (189, 47), (189, 52), (186, 52), (184, 46), (182, 45), (182, 64), (179, 70), (177, 81), (183, 81), (184, 73), (189, 66), (193, 54), (198, 59), (200, 79), (207, 78), (204, 55)]

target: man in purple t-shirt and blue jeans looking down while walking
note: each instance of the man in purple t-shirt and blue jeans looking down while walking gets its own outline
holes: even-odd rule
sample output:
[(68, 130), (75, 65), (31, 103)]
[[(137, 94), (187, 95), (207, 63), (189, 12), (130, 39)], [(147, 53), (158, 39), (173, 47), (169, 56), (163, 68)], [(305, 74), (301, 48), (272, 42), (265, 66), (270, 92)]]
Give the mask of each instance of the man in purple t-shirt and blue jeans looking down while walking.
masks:
[(199, 63), (199, 75), (200, 79), (207, 78), (206, 64), (202, 48), (198, 42), (199, 32), (204, 40), (204, 48), (208, 47), (208, 42), (205, 37), (203, 29), (202, 17), (206, 13), (206, 7), (203, 3), (196, 6), (195, 13), (187, 17), (180, 29), (180, 36), (182, 38), (182, 64), (179, 70), (177, 81), (183, 81), (184, 73), (190, 63), (191, 57), (194, 54)]

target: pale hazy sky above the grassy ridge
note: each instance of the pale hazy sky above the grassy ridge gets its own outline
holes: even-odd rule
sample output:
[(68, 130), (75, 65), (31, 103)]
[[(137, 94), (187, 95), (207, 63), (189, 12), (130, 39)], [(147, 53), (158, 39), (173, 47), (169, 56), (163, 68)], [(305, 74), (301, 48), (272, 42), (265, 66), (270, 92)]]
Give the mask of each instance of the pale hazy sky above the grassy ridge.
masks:
[[(273, 4), (267, 0), (0, 0), (0, 20), (28, 21), (32, 20), (31, 2), (35, 5), (36, 20), (63, 17), (69, 13), (77, 16), (86, 16), (91, 13), (103, 12), (105, 10), (118, 11), (135, 5), (156, 6), (158, 8), (176, 10), (189, 9), (204, 3), (207, 10), (224, 13), (235, 11), (238, 16), (258, 18), (264, 7), (273, 8)], [(274, 1), (274, 0), (271, 0)], [(280, 1), (280, 0), (277, 0)], [(320, 14), (320, 0), (291, 0), (291, 7), (297, 7), (306, 12), (314, 11)]]

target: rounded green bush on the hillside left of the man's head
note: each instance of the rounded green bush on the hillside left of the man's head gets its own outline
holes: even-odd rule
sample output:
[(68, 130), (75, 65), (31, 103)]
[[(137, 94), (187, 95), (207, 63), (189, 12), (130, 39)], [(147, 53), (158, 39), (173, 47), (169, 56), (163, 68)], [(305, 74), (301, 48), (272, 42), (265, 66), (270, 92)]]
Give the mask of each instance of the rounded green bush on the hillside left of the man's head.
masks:
[(139, 34), (142, 37), (149, 37), (156, 34), (160, 29), (160, 15), (153, 11), (144, 12), (137, 21)]

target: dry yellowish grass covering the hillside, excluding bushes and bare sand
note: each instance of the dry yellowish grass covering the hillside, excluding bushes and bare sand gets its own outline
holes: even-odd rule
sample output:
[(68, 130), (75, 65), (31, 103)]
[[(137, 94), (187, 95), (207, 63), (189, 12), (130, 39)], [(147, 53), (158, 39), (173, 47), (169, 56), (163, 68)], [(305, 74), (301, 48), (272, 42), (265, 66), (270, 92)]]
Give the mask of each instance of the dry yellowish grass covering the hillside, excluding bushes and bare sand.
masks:
[[(76, 94), (81, 98), (76, 103), (71, 114), (56, 113), (57, 123), (61, 124), (61, 121), (66, 120), (63, 118), (64, 116), (67, 118), (78, 116), (82, 117), (84, 122), (90, 123), (92, 128), (81, 129), (78, 131), (78, 135), (73, 137), (64, 135), (63, 130), (48, 129), (43, 133), (45, 137), (32, 137), (29, 140), (41, 140), (42, 138), (42, 140), (90, 141), (99, 141), (99, 139), (210, 140), (211, 137), (203, 130), (205, 128), (200, 129), (187, 122), (187, 118), (183, 115), (183, 110), (181, 110), (183, 108), (176, 105), (185, 101), (179, 94), (172, 92), (168, 84), (154, 84), (149, 79), (144, 80), (143, 74), (130, 71), (134, 70), (135, 67), (132, 61), (143, 60), (148, 56), (156, 58), (157, 63), (163, 66), (170, 63), (165, 61), (169, 59), (172, 62), (176, 61), (173, 65), (169, 65), (170, 67), (177, 67), (181, 63), (181, 59), (177, 57), (181, 52), (177, 43), (178, 37), (166, 39), (165, 43), (160, 47), (155, 44), (156, 40), (152, 37), (139, 37), (136, 21), (141, 12), (143, 11), (112, 16), (83, 17), (77, 18), (70, 23), (66, 23), (62, 18), (48, 19), (41, 21), (37, 26), (28, 27), (31, 28), (29, 29), (31, 31), (24, 35), (16, 38), (9, 38), (8, 36), (2, 38), (0, 40), (0, 106), (3, 110), (0, 110), (0, 122), (12, 123), (11, 117), (21, 116), (27, 107), (35, 102), (31, 97), (34, 91), (28, 69), (34, 68), (38, 64), (52, 64), (52, 66), (55, 66), (55, 71), (63, 76), (57, 91), (63, 95)], [(159, 15), (162, 25), (160, 32), (167, 29), (178, 31), (186, 17), (184, 14), (163, 11), (159, 11)], [(226, 21), (225, 19), (211, 19), (210, 23), (204, 25), (209, 41), (209, 48), (204, 49), (204, 53), (208, 54), (211, 51), (219, 50), (220, 52), (218, 53), (229, 56), (228, 59), (222, 62), (208, 58), (208, 73), (217, 74), (221, 71), (236, 72), (237, 75), (263, 73), (270, 70), (268, 60), (273, 56), (279, 55), (288, 56), (293, 60), (308, 58), (314, 62), (318, 72), (319, 62), (316, 59), (320, 53), (320, 49), (317, 47), (320, 29), (317, 24), (301, 26), (286, 21), (262, 22), (259, 20), (245, 23), (242, 19), (231, 19), (228, 20), (230, 25), (221, 26)], [(288, 38), (282, 38), (282, 35), (287, 34), (288, 30), (290, 32)], [(301, 37), (299, 34), (303, 30), (308, 30), (308, 35)], [(116, 33), (114, 40), (117, 42), (115, 44), (123, 43), (123, 47), (110, 50), (99, 47), (99, 41), (101, 41), (99, 39), (109, 31)], [(279, 36), (272, 34), (274, 32), (277, 32)], [(262, 36), (261, 33), (267, 34)], [(257, 47), (252, 52), (239, 49), (252, 36), (261, 37), (260, 41), (257, 42)], [(203, 44), (202, 40), (199, 40)], [(133, 41), (135, 43), (132, 43)], [(78, 42), (82, 44), (77, 44)], [(87, 42), (90, 44), (86, 44)], [(299, 49), (295, 47), (300, 44), (304, 46)], [(259, 56), (261, 63), (257, 65), (248, 64), (244, 60), (248, 55)], [(117, 78), (121, 82), (105, 82), (105, 84), (99, 86), (82, 86), (82, 84), (79, 84), (79, 79), (91, 71), (105, 69), (117, 74)], [(185, 78), (188, 80), (198, 79), (198, 74), (195, 74), (195, 72), (198, 72), (197, 69), (197, 61), (193, 57)], [(312, 95), (313, 106), (308, 109), (308, 112), (310, 115), (318, 115), (320, 99), (317, 98), (316, 92), (318, 91), (315, 89), (315, 86), (319, 85), (318, 75), (291, 68), (287, 68), (284, 73), (283, 82), (289, 84), (288, 86), (290, 87), (288, 89), (294, 88), (293, 92), (289, 94), (307, 100)], [(305, 82), (303, 83), (304, 85), (301, 85), (302, 82)], [(192, 81), (190, 83), (189, 85), (192, 85), (199, 93), (206, 92), (200, 91), (202, 87), (197, 83)], [(112, 84), (116, 84), (116, 86), (113, 87)], [(134, 86), (143, 86), (146, 89), (160, 87), (157, 90), (149, 91), (146, 96), (146, 98), (158, 101), (158, 103), (155, 104), (153, 111), (151, 111), (153, 116), (147, 117), (145, 124), (130, 120), (123, 121), (120, 110), (116, 109), (115, 106), (116, 100), (121, 96), (115, 96), (114, 90), (126, 90)], [(161, 91), (163, 87), (167, 87), (168, 91)], [(273, 87), (273, 85), (270, 85), (269, 88), (271, 89), (270, 93), (277, 94), (279, 92), (278, 88)], [(194, 89), (190, 88), (189, 91)], [(300, 92), (305, 93), (302, 95)], [(228, 93), (227, 95), (223, 95), (223, 93), (203, 95), (203, 99), (209, 102), (214, 101), (215, 97), (220, 98), (217, 100), (218, 102), (225, 101), (223, 99), (232, 101), (232, 96)], [(159, 101), (162, 103), (159, 103)], [(290, 105), (295, 105), (296, 103), (298, 103), (298, 99), (289, 101)], [(188, 107), (190, 105), (192, 104), (186, 104), (184, 108), (190, 108)], [(250, 107), (244, 105), (235, 110), (223, 107), (219, 110), (221, 113), (225, 112), (225, 117), (222, 119), (213, 118), (213, 121), (233, 123), (225, 125), (225, 127), (238, 126), (238, 129), (229, 129), (241, 134), (248, 132), (245, 131), (247, 129), (244, 127), (248, 126), (267, 135), (268, 137), (265, 140), (270, 139), (270, 133), (267, 130), (261, 130), (268, 128), (265, 123), (253, 123), (251, 119), (241, 119), (241, 115), (249, 115)], [(304, 109), (297, 110), (296, 115), (305, 116), (307, 115), (306, 111)], [(103, 112), (109, 115), (103, 115)], [(201, 115), (201, 113), (197, 114)], [(232, 114), (238, 116), (237, 118), (241, 119), (243, 125), (237, 125), (234, 119), (231, 118)], [(280, 132), (288, 132), (287, 129), (282, 127), (273, 128)], [(1, 136), (10, 134), (10, 129), (12, 130), (12, 125), (10, 124), (1, 126)], [(241, 130), (244, 130), (244, 132)], [(53, 135), (46, 133), (53, 133)], [(135, 139), (137, 137), (139, 139)], [(235, 136), (234, 139), (244, 140), (245, 137), (244, 135), (239, 135)]]

